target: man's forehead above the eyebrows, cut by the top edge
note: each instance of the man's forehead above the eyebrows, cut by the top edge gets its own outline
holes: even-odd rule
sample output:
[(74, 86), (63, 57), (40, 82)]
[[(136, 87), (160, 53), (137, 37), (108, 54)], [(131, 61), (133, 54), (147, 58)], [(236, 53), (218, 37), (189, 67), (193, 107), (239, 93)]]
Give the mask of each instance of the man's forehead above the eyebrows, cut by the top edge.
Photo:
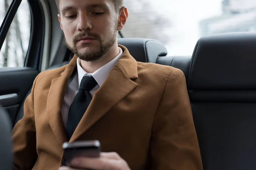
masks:
[(108, 8), (113, 7), (112, 0), (59, 0), (60, 10), (73, 7), (73, 8), (87, 8), (90, 6), (107, 6)]

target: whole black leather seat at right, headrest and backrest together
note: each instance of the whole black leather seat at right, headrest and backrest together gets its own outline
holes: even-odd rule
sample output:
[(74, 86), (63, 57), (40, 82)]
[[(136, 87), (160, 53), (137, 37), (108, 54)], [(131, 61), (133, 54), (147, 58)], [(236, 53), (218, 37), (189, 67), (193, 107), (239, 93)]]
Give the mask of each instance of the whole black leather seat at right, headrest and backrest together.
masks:
[(188, 77), (204, 170), (256, 169), (256, 33), (202, 37)]

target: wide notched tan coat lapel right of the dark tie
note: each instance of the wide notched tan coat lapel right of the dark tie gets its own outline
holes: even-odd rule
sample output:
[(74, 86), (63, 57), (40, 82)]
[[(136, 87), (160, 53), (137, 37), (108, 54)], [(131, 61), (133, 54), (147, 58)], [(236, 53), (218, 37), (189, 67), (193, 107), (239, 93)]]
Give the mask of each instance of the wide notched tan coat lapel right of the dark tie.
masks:
[(112, 68), (99, 90), (94, 94), (70, 142), (78, 139), (110, 111), (114, 105), (124, 99), (125, 96), (137, 87), (137, 83), (133, 81), (138, 78), (137, 61), (131, 57), (124, 46), (119, 45), (119, 47), (124, 50), (122, 57)]

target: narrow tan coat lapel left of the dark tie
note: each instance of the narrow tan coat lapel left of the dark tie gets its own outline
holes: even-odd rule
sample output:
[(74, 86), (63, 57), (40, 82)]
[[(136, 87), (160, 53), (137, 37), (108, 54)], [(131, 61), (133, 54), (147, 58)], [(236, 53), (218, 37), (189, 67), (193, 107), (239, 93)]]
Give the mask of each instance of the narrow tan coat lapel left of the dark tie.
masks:
[(76, 56), (73, 57), (66, 68), (64, 68), (64, 71), (61, 72), (60, 76), (52, 79), (52, 84), (50, 86), (47, 98), (49, 125), (51, 126), (52, 132), (55, 134), (56, 139), (61, 145), (64, 142), (67, 142), (67, 134), (61, 115), (61, 107), (67, 90), (68, 80), (76, 68), (76, 59)]

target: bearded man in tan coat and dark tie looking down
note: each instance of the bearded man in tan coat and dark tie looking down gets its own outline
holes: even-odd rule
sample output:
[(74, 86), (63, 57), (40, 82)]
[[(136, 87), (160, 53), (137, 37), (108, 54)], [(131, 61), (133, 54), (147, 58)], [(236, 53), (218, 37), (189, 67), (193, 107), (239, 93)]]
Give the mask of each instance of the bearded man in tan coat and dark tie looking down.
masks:
[[(15, 170), (201, 170), (182, 71), (117, 45), (123, 0), (56, 0), (68, 65), (39, 74), (15, 126)], [(64, 142), (99, 140), (98, 159), (63, 167)], [(60, 167), (61, 166), (61, 167)]]

